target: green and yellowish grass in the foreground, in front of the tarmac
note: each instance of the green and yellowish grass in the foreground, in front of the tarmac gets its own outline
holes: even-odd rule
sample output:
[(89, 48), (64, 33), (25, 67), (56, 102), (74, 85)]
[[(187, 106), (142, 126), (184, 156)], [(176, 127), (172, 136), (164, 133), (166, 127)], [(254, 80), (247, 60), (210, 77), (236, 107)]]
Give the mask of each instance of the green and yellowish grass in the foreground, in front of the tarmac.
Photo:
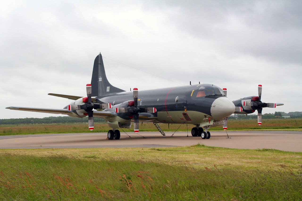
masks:
[(194, 145), (0, 150), (1, 200), (301, 200), (302, 153)]

